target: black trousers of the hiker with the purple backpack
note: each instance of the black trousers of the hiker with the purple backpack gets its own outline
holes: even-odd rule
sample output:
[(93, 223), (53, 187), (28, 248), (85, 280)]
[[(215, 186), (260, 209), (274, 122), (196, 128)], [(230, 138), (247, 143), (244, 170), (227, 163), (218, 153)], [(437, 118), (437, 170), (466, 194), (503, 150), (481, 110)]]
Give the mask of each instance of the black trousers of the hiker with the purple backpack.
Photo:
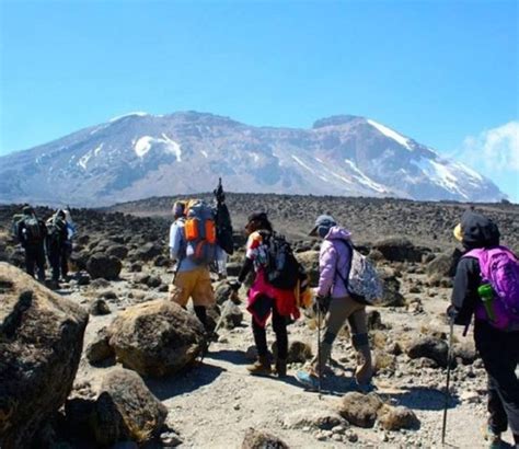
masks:
[(510, 426), (519, 442), (519, 332), (503, 332), (476, 320), (474, 341), (488, 375), (488, 425), (496, 434)]

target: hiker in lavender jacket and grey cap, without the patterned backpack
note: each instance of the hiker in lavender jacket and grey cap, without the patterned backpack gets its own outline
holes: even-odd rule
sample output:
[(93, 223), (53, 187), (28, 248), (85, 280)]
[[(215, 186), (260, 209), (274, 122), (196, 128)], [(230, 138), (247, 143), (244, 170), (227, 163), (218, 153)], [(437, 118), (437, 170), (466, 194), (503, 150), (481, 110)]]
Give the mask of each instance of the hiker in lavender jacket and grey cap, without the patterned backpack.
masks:
[[(320, 360), (315, 356), (308, 369), (296, 373), (296, 379), (305, 387), (316, 389), (322, 368), (332, 353), (332, 345), (338, 332), (348, 321), (351, 329), (351, 344), (357, 352), (355, 379), (361, 391), (372, 390), (373, 367), (368, 339), (366, 303), (353, 299), (347, 279), (351, 267), (353, 243), (350, 233), (337, 226), (328, 215), (321, 215), (310, 232), (311, 237), (323, 239), (319, 255), (319, 286), (315, 291), (316, 307), (326, 313), (324, 335), (320, 342)], [(320, 325), (321, 323), (318, 323)]]

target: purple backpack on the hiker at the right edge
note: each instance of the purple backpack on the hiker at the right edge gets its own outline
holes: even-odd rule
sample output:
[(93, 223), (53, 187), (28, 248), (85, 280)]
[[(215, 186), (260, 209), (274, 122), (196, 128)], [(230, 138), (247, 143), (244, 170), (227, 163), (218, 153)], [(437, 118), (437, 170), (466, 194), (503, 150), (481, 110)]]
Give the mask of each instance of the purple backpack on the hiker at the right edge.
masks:
[(496, 329), (505, 330), (519, 324), (519, 260), (505, 246), (471, 250), (463, 257), (475, 257), (480, 263), (483, 284), (491, 284), (495, 296), (492, 301), (495, 320), (491, 320), (480, 301), (475, 315)]

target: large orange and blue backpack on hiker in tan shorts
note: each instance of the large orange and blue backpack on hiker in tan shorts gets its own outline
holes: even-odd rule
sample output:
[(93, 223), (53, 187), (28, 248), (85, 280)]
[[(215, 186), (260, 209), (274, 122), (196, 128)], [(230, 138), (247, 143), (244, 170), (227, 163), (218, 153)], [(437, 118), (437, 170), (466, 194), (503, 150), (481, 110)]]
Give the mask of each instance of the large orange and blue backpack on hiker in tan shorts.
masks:
[(186, 205), (184, 223), (186, 257), (197, 264), (211, 264), (216, 260), (216, 226), (212, 208), (200, 199)]

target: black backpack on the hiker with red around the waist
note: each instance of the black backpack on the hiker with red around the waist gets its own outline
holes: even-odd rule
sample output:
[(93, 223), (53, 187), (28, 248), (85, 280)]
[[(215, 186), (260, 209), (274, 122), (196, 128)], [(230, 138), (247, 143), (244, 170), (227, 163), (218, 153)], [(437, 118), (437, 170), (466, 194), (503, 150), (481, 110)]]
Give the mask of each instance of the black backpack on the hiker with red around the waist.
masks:
[(260, 234), (266, 249), (265, 280), (280, 290), (292, 290), (299, 281), (301, 266), (290, 244), (284, 235), (274, 232), (260, 231)]

